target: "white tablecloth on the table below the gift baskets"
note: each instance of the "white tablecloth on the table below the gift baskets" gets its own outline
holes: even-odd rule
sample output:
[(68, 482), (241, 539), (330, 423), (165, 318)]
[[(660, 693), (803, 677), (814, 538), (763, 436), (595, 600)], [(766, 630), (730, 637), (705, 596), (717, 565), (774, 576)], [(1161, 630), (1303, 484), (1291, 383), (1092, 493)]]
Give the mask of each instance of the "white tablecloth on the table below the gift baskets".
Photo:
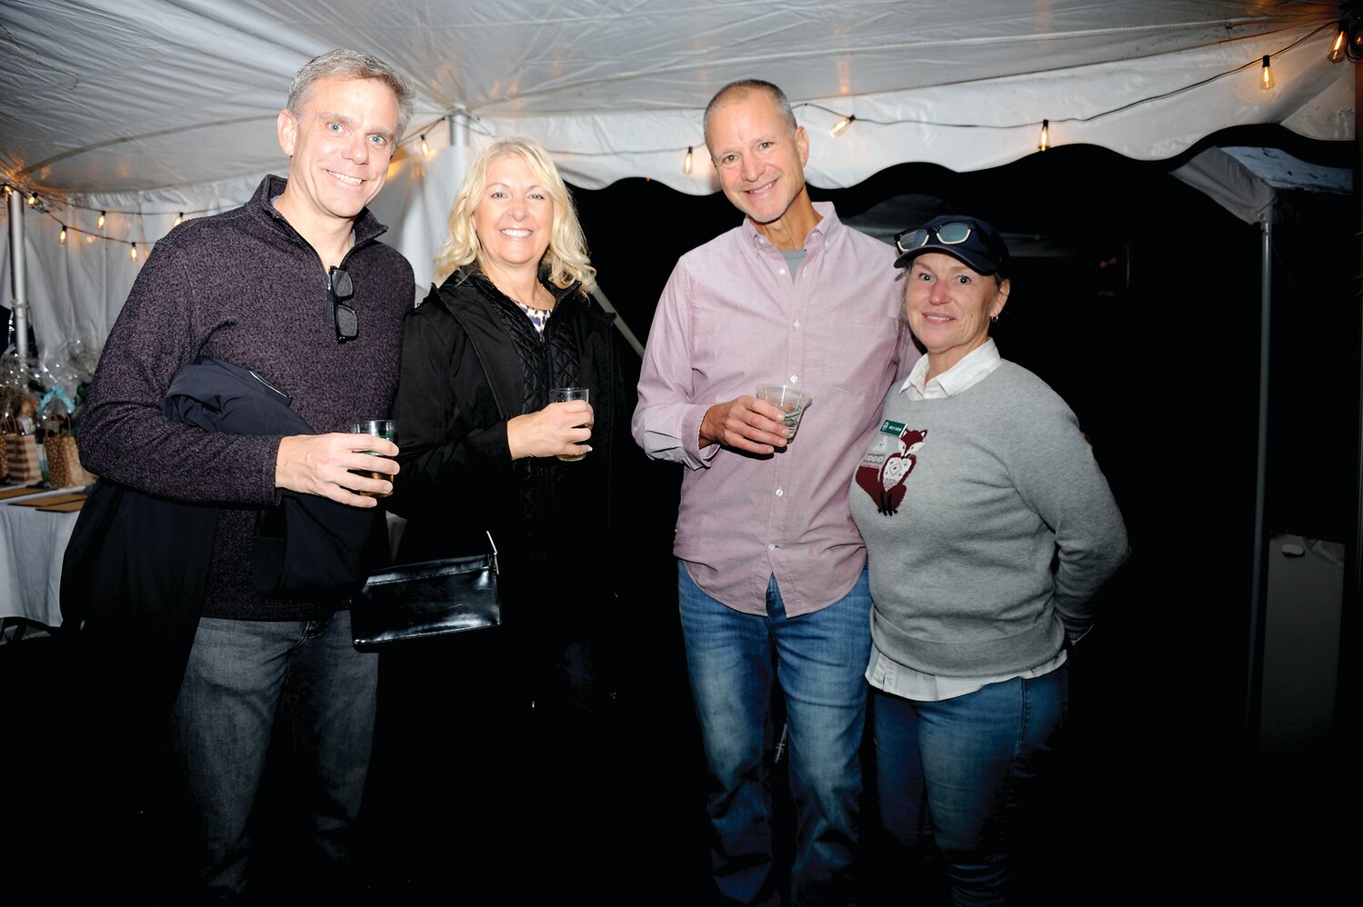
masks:
[(78, 489), (53, 489), (0, 501), (0, 617), (61, 625), (61, 557), (80, 512), (45, 513), (34, 507), (16, 507), (15, 501), (74, 490)]

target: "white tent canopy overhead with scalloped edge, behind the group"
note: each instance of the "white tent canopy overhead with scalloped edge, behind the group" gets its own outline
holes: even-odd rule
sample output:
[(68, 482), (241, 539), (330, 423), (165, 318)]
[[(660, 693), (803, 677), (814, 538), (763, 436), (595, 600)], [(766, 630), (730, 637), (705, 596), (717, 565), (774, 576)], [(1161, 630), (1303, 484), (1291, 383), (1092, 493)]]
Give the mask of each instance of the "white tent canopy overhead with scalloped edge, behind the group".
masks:
[(1352, 67), (1326, 60), (1338, 15), (1247, 0), (0, 0), (0, 176), (48, 208), (25, 217), (38, 336), (98, 343), (136, 275), (128, 244), (144, 253), (180, 212), (232, 207), (285, 172), (289, 79), (334, 46), (418, 86), (375, 210), (421, 285), (462, 162), (489, 136), (541, 142), (575, 185), (709, 193), (701, 110), (756, 76), (796, 105), (826, 188), (904, 162), (1003, 165), (1036, 153), (1043, 121), (1054, 146), (1138, 159), (1244, 124), (1351, 139)]

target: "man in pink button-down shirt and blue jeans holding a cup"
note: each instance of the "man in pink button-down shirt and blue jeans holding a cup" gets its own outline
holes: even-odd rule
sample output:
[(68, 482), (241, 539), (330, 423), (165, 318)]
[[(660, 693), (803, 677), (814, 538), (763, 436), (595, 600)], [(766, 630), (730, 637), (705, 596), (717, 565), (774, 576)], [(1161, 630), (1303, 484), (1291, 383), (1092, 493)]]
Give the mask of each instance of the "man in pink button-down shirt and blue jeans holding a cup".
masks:
[[(654, 315), (634, 437), (686, 466), (675, 553), (691, 689), (710, 771), (711, 857), (732, 903), (856, 900), (866, 547), (848, 488), (880, 402), (916, 358), (894, 249), (814, 204), (808, 136), (776, 86), (725, 86), (706, 144), (741, 226), (684, 255)], [(812, 395), (799, 440), (754, 396)], [(763, 757), (780, 682), (797, 810), (776, 878)]]

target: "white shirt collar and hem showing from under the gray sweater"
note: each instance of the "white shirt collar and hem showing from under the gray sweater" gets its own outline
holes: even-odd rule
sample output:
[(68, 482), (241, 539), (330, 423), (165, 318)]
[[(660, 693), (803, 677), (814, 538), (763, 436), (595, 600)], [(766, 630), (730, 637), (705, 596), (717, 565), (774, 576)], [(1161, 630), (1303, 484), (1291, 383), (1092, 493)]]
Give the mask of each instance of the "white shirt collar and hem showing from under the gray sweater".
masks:
[[(981, 346), (966, 353), (960, 362), (946, 372), (938, 375), (931, 381), (925, 381), (928, 357), (924, 355), (913, 364), (913, 370), (909, 372), (909, 376), (900, 385), (900, 394), (904, 394), (910, 400), (940, 400), (979, 384), (1002, 364), (1003, 358), (999, 355), (999, 347), (995, 346), (994, 340), (985, 340)], [(894, 696), (916, 699), (921, 703), (938, 703), (943, 699), (955, 699), (957, 696), (973, 693), (983, 686), (1013, 680), (1014, 677), (1041, 677), (1043, 674), (1050, 674), (1063, 663), (1065, 650), (1060, 650), (1051, 661), (1025, 671), (1000, 674), (998, 677), (947, 677), (916, 671), (908, 665), (901, 665), (876, 648), (875, 641), (872, 641), (871, 663), (866, 669), (866, 680), (871, 686)]]

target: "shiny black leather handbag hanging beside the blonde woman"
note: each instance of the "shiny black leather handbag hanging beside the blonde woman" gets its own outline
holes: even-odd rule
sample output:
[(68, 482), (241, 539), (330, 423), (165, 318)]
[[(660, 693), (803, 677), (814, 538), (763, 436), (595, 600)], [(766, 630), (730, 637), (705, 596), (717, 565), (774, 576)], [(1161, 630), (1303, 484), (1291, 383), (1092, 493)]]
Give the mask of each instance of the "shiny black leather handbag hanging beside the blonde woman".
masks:
[(394, 643), (462, 633), (502, 624), (497, 549), (487, 554), (401, 564), (371, 573), (350, 603), (354, 647), (378, 651)]

